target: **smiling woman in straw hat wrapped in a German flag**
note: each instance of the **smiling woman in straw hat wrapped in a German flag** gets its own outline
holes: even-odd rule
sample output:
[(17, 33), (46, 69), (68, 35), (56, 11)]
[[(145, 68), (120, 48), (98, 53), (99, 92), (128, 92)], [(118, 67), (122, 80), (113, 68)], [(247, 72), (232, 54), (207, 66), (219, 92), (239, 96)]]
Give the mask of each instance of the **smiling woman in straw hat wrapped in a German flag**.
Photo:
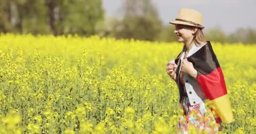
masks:
[[(166, 67), (179, 87), (184, 116), (180, 117), (178, 132), (182, 134), (188, 132), (189, 126), (197, 133), (216, 134), (221, 122), (233, 121), (224, 76), (210, 41), (204, 39), (202, 20), (198, 11), (182, 8), (170, 22), (176, 27), (178, 41), (184, 44), (178, 57)], [(205, 106), (206, 100), (211, 108)]]

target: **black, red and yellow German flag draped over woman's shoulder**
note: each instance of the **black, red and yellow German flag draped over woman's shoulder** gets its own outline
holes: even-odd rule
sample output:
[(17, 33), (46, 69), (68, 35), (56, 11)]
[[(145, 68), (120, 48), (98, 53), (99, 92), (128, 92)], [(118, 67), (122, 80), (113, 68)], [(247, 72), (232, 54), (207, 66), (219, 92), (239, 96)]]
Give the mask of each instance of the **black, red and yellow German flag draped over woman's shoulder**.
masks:
[(232, 107), (219, 62), (213, 52), (210, 41), (197, 52), (187, 58), (197, 70), (197, 80), (200, 83), (210, 106), (223, 123), (230, 123), (233, 119)]

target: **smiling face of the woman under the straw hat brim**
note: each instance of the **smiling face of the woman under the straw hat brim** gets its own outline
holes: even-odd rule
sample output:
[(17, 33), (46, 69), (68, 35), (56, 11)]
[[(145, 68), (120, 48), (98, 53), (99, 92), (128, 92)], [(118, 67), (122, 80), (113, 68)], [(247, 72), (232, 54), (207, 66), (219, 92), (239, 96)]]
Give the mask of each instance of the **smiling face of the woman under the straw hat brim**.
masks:
[(176, 24), (174, 33), (177, 35), (179, 42), (186, 43), (187, 41), (190, 41), (193, 39), (194, 33), (196, 31), (197, 31), (197, 28), (193, 26)]

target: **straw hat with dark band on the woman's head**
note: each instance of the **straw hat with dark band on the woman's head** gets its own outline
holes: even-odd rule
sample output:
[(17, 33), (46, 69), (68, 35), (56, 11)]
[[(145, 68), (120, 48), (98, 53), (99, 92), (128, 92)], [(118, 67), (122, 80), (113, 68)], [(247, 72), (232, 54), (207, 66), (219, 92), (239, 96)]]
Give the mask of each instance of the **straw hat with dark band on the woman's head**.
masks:
[(203, 26), (203, 15), (197, 10), (181, 8), (175, 21), (171, 21), (171, 24), (181, 24), (188, 26), (195, 26), (198, 28), (205, 28)]

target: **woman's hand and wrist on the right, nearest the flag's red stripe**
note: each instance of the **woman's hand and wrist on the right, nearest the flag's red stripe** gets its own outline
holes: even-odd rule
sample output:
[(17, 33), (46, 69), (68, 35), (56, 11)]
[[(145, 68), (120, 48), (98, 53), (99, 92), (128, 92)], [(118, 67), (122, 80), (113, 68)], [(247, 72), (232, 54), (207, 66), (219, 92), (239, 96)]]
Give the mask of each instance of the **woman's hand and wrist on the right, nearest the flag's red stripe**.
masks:
[(195, 70), (192, 62), (189, 62), (187, 58), (182, 61), (181, 72), (187, 73), (195, 79), (197, 77), (197, 70)]

